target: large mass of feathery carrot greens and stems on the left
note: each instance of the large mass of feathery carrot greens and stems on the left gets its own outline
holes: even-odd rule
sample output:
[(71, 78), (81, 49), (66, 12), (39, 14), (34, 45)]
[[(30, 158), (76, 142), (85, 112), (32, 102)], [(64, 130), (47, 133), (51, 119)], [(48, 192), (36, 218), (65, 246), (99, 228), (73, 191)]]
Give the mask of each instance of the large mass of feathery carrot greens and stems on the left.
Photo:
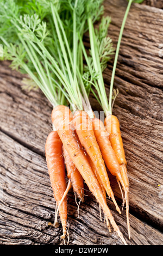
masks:
[(37, 85), (53, 107), (64, 102), (70, 103), (73, 110), (83, 109), (83, 103), (89, 105), (79, 37), (83, 40), (88, 30), (88, 16), (92, 23), (101, 17), (102, 2), (38, 0), (23, 5), (22, 1), (9, 0), (0, 3), (3, 59), (12, 61), (12, 69), (28, 74), (30, 79), (24, 80), (26, 87), (28, 82), (29, 88)]

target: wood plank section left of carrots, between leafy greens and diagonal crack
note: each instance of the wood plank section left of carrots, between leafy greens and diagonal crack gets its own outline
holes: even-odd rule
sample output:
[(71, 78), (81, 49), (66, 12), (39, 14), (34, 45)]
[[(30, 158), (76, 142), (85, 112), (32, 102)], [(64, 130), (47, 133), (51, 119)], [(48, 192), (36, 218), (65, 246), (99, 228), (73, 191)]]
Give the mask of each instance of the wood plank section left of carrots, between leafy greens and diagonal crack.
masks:
[[(40, 90), (22, 90), (22, 75), (1, 63), (1, 129), (40, 154), (52, 130), (52, 107)], [(10, 84), (10, 86), (9, 86)]]

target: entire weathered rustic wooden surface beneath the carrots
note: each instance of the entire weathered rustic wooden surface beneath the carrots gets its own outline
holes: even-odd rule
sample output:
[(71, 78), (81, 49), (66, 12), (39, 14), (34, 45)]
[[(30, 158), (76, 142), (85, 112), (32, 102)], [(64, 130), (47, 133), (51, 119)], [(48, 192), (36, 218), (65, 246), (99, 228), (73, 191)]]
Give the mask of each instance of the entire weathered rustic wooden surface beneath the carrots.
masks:
[[(125, 211), (117, 214), (109, 199), (108, 205), (129, 245), (163, 244), (163, 54), (159, 48), (163, 10), (155, 8), (159, 2), (131, 7), (115, 77), (120, 93), (114, 114), (121, 124), (130, 181), (130, 240)], [(109, 34), (116, 46), (127, 2), (104, 3), (105, 14), (112, 20)], [(108, 93), (111, 69), (112, 61), (104, 72)], [(55, 200), (44, 147), (52, 129), (52, 107), (40, 90), (22, 90), (22, 75), (12, 71), (9, 62), (0, 65), (0, 84), (0, 244), (62, 245), (61, 226), (48, 225), (54, 221)], [(90, 100), (93, 109), (100, 111), (96, 100)], [(121, 206), (116, 181), (111, 176), (110, 180)], [(98, 204), (86, 185), (85, 194), (78, 216), (72, 190), (68, 193), (70, 245), (122, 245), (114, 231), (109, 233), (100, 221)]]

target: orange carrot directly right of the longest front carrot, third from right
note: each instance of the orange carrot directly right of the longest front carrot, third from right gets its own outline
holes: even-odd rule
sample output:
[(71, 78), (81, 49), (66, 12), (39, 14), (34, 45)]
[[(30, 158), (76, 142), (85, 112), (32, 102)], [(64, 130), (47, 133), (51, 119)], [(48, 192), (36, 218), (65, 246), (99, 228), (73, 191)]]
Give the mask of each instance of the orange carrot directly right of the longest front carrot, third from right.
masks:
[(110, 181), (108, 178), (108, 173), (105, 168), (105, 163), (96, 141), (96, 137), (92, 126), (92, 119), (85, 111), (76, 111), (73, 115), (73, 124), (79, 137), (80, 143), (83, 145), (87, 154), (90, 156), (90, 159), (95, 164), (97, 175), (99, 175), (99, 179), (101, 179), (106, 193), (109, 197), (111, 197), (112, 201), (116, 206), (117, 211), (121, 213), (120, 208), (118, 207), (116, 200), (114, 198), (114, 193), (112, 192), (110, 186)]

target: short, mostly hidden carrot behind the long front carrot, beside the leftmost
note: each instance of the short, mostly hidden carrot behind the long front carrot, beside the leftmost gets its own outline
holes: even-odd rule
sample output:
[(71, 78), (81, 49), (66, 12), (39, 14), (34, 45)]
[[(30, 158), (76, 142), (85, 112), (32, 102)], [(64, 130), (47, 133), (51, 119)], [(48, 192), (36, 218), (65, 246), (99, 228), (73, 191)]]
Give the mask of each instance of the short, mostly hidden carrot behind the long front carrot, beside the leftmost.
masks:
[(77, 197), (84, 202), (84, 181), (82, 175), (71, 160), (70, 155), (67, 153), (65, 147), (63, 147), (64, 159), (67, 169), (67, 178), (71, 180), (73, 191), (77, 194)]

